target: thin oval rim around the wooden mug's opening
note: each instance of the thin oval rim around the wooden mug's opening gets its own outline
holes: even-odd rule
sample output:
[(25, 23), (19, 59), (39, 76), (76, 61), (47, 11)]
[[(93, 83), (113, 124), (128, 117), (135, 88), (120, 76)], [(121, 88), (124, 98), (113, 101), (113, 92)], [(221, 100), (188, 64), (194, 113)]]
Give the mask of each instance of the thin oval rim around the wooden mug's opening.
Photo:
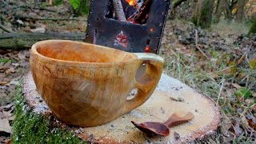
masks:
[[(122, 51), (122, 50), (118, 50), (118, 51), (121, 51), (122, 53), (129, 53), (131, 55), (134, 56), (134, 58), (131, 58), (130, 60), (126, 61), (126, 62), (76, 62), (76, 61), (66, 61), (66, 60), (61, 60), (61, 59), (55, 59), (55, 58), (49, 58), (49, 57), (46, 57), (40, 53), (38, 53), (38, 48), (37, 46), (38, 45), (42, 45), (43, 43), (46, 43), (46, 42), (73, 42), (73, 43), (77, 43), (77, 44), (80, 44), (80, 45), (90, 45), (90, 46), (95, 46), (96, 44), (91, 44), (91, 43), (87, 43), (87, 42), (78, 42), (78, 41), (71, 41), (71, 40), (57, 40), (57, 39), (52, 39), (52, 40), (44, 40), (44, 41), (40, 41), (40, 42), (36, 42), (34, 43), (34, 45), (31, 47), (31, 54), (35, 54), (35, 55), (38, 55), (39, 58), (42, 58), (43, 60), (47, 61), (47, 62), (59, 62), (59, 63), (62, 63), (62, 64), (68, 64), (68, 65), (94, 65), (94, 66), (107, 66), (107, 67), (113, 67), (114, 65), (127, 65), (127, 64), (130, 64), (131, 62), (134, 62), (134, 60), (136, 58), (138, 58), (138, 56), (134, 53), (129, 53), (129, 52), (126, 52), (126, 51)], [(106, 47), (106, 46), (100, 46), (100, 45), (96, 45), (96, 46), (99, 46), (101, 48), (104, 48), (104, 49), (114, 49), (114, 48), (110, 48), (110, 47)], [(116, 49), (114, 49), (116, 50)]]

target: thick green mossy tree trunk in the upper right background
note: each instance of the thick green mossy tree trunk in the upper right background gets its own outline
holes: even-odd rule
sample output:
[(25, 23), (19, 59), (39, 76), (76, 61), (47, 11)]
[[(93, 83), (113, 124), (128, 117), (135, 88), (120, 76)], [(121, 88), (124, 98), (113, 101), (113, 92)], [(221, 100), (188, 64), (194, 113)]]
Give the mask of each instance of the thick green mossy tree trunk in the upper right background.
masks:
[(195, 26), (201, 26), (202, 28), (208, 28), (211, 25), (212, 16), (214, 12), (214, 1), (213, 0), (198, 0), (198, 6), (196, 8), (193, 22)]

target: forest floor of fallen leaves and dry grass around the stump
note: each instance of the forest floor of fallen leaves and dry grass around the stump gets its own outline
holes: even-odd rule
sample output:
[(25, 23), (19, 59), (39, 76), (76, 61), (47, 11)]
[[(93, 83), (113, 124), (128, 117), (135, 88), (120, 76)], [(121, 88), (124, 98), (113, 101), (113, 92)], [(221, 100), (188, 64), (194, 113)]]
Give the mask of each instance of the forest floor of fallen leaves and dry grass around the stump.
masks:
[[(85, 33), (86, 17), (74, 18), (67, 4), (6, 2), (0, 5), (0, 20), (8, 30)], [(162, 38), (159, 55), (165, 59), (164, 73), (216, 102), (222, 113), (223, 142), (250, 143), (256, 138), (256, 36), (246, 37), (249, 28), (223, 21), (201, 30), (175, 19), (166, 22)], [(10, 126), (15, 87), (29, 71), (29, 57), (30, 50), (0, 50), (0, 121), (7, 119)], [(0, 142), (10, 131), (4, 134)]]

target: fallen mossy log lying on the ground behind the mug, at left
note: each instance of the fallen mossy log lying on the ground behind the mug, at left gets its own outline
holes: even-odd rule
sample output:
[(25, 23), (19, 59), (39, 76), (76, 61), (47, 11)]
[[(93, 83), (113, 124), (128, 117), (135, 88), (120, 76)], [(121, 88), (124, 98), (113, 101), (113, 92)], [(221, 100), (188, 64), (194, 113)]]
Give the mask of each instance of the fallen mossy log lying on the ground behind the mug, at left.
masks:
[(46, 39), (66, 39), (83, 41), (85, 34), (72, 33), (7, 33), (0, 34), (0, 50), (20, 50), (30, 48), (35, 42)]

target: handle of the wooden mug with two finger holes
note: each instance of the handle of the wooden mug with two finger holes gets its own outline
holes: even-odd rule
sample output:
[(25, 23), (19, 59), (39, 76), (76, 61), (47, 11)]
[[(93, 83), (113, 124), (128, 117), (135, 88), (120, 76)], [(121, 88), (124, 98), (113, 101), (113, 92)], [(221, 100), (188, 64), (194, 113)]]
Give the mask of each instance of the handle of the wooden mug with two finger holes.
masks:
[(135, 70), (138, 71), (140, 66), (144, 64), (146, 67), (142, 74), (138, 74), (137, 72), (135, 76), (134, 88), (137, 88), (138, 91), (134, 98), (126, 100), (126, 113), (141, 106), (142, 103), (150, 98), (162, 74), (163, 59), (160, 56), (150, 53), (134, 54), (138, 57)]

